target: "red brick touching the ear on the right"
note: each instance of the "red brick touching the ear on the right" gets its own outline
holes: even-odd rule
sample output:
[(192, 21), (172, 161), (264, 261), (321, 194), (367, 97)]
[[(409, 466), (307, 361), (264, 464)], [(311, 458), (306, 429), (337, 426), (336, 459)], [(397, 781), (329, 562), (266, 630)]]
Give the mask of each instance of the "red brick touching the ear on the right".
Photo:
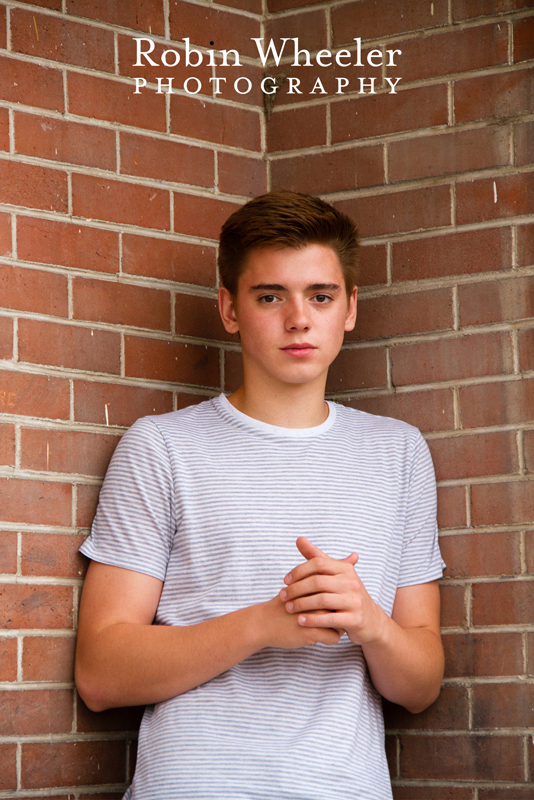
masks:
[(407, 333), (450, 330), (453, 324), (450, 289), (363, 297), (358, 303), (356, 328), (345, 338), (383, 339)]

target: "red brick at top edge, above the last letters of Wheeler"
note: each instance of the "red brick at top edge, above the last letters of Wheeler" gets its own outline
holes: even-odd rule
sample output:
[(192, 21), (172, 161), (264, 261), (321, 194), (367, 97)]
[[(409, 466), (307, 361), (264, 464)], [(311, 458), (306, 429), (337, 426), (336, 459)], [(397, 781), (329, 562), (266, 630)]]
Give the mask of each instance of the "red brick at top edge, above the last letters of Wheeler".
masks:
[[(428, 3), (412, 3), (410, 0), (382, 0), (379, 7), (376, 0), (360, 0), (332, 11), (336, 46), (352, 44), (352, 34), (356, 31), (362, 39), (378, 39), (395, 33), (446, 25), (447, 21), (446, 0), (437, 0), (433, 10)], [(394, 48), (397, 45), (398, 43), (390, 44), (388, 47)], [(401, 42), (400, 47), (403, 45), (405, 42)]]

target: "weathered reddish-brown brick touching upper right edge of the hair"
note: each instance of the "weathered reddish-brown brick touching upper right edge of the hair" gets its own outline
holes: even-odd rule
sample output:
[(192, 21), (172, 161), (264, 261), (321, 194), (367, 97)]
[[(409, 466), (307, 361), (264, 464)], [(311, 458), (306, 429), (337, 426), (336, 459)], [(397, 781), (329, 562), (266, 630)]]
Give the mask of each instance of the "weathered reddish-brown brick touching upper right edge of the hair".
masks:
[(355, 197), (339, 200), (334, 205), (352, 217), (361, 236), (382, 236), (451, 224), (448, 186)]

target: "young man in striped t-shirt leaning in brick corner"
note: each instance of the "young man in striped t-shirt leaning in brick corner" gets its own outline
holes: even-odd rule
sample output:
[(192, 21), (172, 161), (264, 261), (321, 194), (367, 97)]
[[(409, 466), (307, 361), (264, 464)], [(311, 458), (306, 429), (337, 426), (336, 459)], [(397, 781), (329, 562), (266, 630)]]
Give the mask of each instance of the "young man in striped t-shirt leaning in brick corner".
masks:
[(443, 670), (435, 481), (419, 432), (324, 399), (356, 320), (356, 231), (318, 198), (223, 226), (244, 381), (138, 420), (102, 488), (77, 683), (148, 704), (128, 800), (387, 800), (380, 695)]

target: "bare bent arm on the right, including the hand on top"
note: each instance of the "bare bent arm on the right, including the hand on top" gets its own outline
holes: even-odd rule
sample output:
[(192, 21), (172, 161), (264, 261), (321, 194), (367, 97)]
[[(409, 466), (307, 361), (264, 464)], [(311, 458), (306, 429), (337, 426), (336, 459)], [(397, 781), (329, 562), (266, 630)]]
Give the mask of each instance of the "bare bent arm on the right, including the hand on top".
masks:
[(362, 646), (376, 689), (413, 713), (427, 708), (443, 677), (437, 582), (398, 589), (388, 617), (358, 577), (356, 554), (338, 561), (304, 537), (297, 547), (308, 560), (285, 578), (286, 610), (306, 626), (310, 611), (328, 609), (314, 625), (343, 628)]

